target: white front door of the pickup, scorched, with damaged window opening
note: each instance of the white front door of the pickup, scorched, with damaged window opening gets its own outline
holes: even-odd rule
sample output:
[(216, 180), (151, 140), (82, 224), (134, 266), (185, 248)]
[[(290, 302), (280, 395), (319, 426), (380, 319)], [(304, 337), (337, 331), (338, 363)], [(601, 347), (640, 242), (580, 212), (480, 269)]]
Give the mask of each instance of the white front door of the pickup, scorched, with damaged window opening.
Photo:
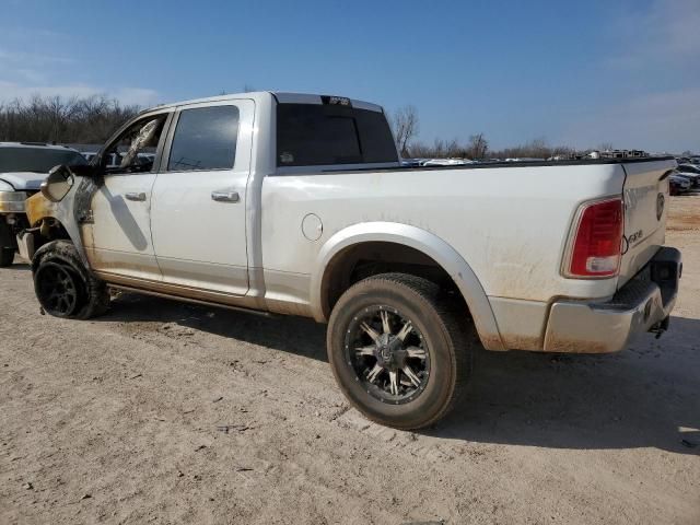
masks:
[[(104, 184), (92, 197), (82, 236), (90, 266), (107, 280), (161, 280), (150, 225), (156, 166), (143, 152), (162, 150), (167, 120), (167, 113), (137, 120), (102, 154)], [(117, 155), (119, 164), (108, 165)]]

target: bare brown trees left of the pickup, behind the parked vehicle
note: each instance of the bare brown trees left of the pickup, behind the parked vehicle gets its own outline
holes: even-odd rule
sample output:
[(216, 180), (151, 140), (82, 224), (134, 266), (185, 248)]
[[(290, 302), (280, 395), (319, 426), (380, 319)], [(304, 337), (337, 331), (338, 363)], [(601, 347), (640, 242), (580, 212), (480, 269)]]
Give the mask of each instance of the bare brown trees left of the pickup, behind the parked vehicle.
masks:
[(0, 104), (0, 141), (103, 143), (139, 110), (106, 95), (18, 98)]

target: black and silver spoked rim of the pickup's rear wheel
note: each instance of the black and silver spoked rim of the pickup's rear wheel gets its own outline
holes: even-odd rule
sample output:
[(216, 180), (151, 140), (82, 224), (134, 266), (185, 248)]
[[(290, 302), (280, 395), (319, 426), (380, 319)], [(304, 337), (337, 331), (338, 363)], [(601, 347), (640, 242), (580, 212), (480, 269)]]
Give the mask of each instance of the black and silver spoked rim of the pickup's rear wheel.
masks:
[(428, 343), (416, 323), (394, 307), (357, 312), (346, 331), (345, 354), (355, 381), (382, 402), (413, 401), (428, 385)]

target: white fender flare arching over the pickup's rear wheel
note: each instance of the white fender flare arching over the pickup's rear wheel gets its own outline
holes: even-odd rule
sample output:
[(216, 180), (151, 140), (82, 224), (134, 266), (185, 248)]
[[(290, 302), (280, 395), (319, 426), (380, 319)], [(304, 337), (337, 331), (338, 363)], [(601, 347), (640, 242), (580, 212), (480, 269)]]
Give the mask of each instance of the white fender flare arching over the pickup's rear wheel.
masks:
[(336, 232), (322, 247), (312, 271), (310, 303), (314, 318), (329, 318), (329, 285), (338, 261), (348, 249), (366, 243), (392, 243), (415, 249), (432, 259), (452, 279), (464, 299), (481, 343), (504, 350), (495, 316), (479, 279), (466, 260), (444, 240), (420, 228), (395, 222), (365, 222)]

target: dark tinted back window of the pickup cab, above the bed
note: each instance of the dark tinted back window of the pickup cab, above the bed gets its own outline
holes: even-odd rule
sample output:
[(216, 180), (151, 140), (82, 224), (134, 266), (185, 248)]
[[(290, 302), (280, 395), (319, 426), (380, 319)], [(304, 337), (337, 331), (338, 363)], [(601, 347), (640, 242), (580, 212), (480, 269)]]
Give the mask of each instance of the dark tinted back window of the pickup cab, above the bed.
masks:
[(278, 104), (278, 166), (383, 162), (398, 162), (383, 113), (338, 105)]

